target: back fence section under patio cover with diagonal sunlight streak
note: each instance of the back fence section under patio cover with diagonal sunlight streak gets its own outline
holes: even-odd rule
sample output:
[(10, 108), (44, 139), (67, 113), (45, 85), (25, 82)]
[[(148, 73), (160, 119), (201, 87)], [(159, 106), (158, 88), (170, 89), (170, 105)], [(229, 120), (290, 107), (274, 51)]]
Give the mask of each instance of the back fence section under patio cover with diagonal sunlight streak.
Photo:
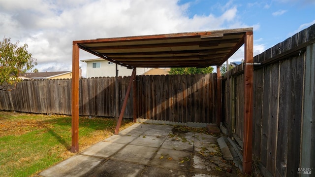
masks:
[[(138, 76), (139, 118), (212, 123), (216, 74)], [(197, 99), (198, 98), (198, 99)]]

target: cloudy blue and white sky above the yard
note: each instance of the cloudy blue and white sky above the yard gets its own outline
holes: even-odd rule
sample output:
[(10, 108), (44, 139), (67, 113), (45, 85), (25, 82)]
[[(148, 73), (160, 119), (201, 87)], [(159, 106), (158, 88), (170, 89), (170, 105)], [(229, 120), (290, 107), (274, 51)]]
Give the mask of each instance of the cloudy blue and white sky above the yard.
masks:
[(315, 24), (314, 9), (315, 0), (0, 0), (0, 37), (27, 43), (38, 71), (71, 71), (73, 40), (130, 35), (253, 27), (257, 55)]

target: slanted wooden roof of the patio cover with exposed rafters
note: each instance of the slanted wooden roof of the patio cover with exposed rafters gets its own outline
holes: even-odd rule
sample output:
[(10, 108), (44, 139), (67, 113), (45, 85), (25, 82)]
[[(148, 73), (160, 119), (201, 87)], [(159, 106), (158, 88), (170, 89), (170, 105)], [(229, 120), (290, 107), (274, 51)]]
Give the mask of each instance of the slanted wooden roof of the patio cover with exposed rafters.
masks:
[(127, 68), (222, 65), (252, 28), (73, 41), (80, 49)]

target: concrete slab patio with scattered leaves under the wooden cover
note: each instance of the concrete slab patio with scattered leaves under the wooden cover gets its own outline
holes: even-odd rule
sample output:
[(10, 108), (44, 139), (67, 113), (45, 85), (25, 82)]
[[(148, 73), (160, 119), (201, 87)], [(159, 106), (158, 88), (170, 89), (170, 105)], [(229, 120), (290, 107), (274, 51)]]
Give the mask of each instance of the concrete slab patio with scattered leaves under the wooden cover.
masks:
[(40, 177), (235, 177), (217, 137), (136, 123), (41, 172)]

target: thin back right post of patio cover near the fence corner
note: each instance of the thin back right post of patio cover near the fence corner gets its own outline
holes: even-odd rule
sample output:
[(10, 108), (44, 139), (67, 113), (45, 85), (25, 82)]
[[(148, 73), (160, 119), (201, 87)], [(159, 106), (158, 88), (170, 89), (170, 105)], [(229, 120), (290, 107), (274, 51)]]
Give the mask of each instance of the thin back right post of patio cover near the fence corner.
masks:
[(222, 88), (221, 88), (221, 66), (217, 66), (217, 125), (221, 123), (221, 106), (222, 106)]

